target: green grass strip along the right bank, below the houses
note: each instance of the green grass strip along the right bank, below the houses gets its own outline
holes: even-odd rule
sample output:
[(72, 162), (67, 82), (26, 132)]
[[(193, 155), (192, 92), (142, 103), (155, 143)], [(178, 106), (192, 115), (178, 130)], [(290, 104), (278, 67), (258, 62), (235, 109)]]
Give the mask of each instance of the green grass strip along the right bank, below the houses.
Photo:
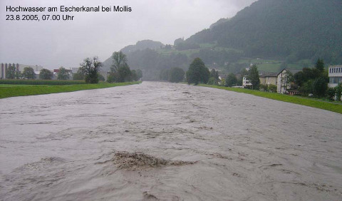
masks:
[(264, 92), (264, 91), (256, 91), (256, 90), (250, 90), (246, 88), (230, 88), (230, 87), (224, 87), (224, 86), (211, 86), (211, 85), (205, 85), (205, 84), (199, 84), (199, 86), (205, 86), (205, 87), (211, 87), (211, 88), (219, 88), (224, 89), (227, 91), (234, 91), (239, 93), (248, 93), (252, 94), (254, 96), (261, 96), (264, 98), (270, 98), (273, 100), (280, 100), (288, 103), (296, 103), (299, 105), (306, 105), (312, 108), (320, 108), (323, 110), (329, 110), (336, 113), (342, 114), (342, 104), (340, 103), (331, 103), (323, 100), (316, 100), (312, 98), (305, 98), (301, 96), (289, 96), (285, 94), (280, 93), (270, 93), (270, 92)]

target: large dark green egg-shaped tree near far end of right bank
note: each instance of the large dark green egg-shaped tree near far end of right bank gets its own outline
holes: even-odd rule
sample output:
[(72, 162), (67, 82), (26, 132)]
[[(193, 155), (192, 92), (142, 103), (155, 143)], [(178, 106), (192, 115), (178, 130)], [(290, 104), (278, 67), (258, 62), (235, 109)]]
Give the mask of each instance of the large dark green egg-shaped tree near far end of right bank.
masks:
[(209, 75), (209, 69), (205, 67), (203, 61), (200, 58), (195, 58), (187, 71), (187, 83), (194, 83), (195, 85), (199, 82), (207, 83)]

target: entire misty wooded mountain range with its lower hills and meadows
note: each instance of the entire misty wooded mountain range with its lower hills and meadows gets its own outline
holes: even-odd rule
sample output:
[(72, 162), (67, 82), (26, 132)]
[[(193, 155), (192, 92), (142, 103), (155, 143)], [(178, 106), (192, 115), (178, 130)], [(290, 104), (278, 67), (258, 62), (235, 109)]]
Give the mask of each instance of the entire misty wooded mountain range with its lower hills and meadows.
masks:
[[(190, 38), (177, 38), (173, 45), (145, 40), (120, 51), (131, 68), (142, 70), (145, 80), (158, 80), (162, 70), (185, 70), (197, 57), (223, 74), (239, 73), (250, 63), (269, 72), (288, 65), (311, 67), (317, 58), (327, 66), (341, 64), (341, 13), (340, 0), (259, 0)], [(111, 63), (108, 58), (103, 69)]]

